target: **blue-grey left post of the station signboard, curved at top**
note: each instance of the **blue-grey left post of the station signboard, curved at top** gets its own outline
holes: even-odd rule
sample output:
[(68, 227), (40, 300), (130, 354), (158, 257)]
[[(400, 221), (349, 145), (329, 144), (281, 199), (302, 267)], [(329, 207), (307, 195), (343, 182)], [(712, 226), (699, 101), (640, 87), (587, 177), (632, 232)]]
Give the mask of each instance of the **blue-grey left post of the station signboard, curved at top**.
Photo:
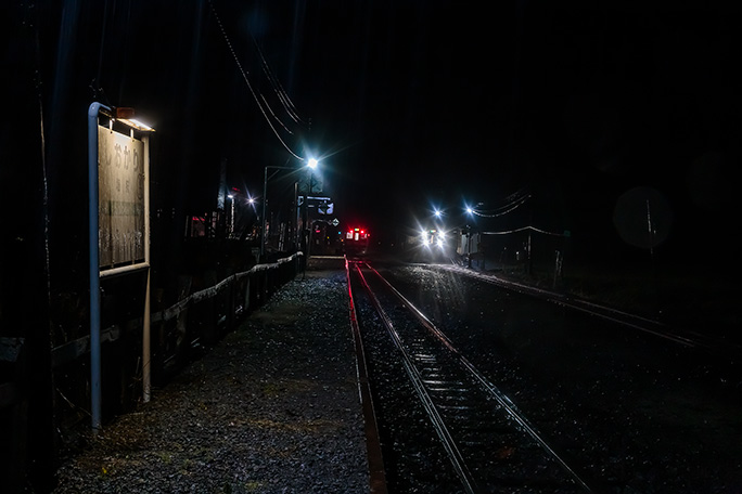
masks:
[[(98, 252), (98, 113), (100, 103), (88, 108), (88, 247), (90, 251), (90, 415), (93, 432), (101, 427), (101, 299)], [(106, 108), (108, 109), (108, 108)]]

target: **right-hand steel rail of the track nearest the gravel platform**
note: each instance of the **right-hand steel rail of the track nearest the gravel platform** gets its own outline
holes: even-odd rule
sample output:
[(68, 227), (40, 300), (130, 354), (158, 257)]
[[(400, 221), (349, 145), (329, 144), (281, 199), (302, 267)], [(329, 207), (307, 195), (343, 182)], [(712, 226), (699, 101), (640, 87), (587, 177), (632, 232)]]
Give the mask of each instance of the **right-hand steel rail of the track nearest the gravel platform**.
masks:
[[(399, 292), (379, 271), (366, 263), (369, 270), (373, 271), (376, 276), (389, 288), (389, 290), (414, 314), (426, 329), (428, 329), (449, 351), (459, 358), (461, 364), (471, 373), (471, 375), (482, 385), (482, 387), (506, 410), (506, 412), (513, 418), (527, 433), (536, 441), (543, 451), (546, 451), (570, 477), (586, 492), (592, 492), (592, 489), (583, 478), (572, 468), (561, 455), (541, 437), (541, 433), (528, 420), (528, 418), (517, 408), (517, 406), (504, 394), (500, 389), (490, 382), (475, 366), (472, 364), (448, 339), (448, 337), (438, 329), (435, 324), (431, 322), (425, 314), (423, 314), (412, 302), (410, 302), (404, 295)], [(358, 266), (357, 266), (358, 268)], [(358, 268), (360, 271), (360, 268)], [(366, 280), (363, 280), (366, 283)]]

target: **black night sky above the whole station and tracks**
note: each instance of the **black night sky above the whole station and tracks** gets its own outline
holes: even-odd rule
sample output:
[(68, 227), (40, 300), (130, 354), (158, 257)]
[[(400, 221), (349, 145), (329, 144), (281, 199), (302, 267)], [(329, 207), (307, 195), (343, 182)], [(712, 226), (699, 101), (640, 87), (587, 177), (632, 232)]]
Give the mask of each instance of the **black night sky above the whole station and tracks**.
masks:
[(651, 196), (663, 248), (732, 248), (741, 11), (623, 3), (5, 3), (22, 123), (3, 123), (2, 179), (37, 153), (21, 136), (40, 94), (52, 220), (82, 209), (72, 164), (95, 99), (157, 129), (153, 200), (177, 214), (215, 207), (222, 161), (259, 195), (265, 166), (314, 154), (338, 213), (379, 238), (433, 207), (459, 224), (464, 204), (528, 194), (527, 214), (479, 226), (621, 242), (616, 205), (641, 214)]

